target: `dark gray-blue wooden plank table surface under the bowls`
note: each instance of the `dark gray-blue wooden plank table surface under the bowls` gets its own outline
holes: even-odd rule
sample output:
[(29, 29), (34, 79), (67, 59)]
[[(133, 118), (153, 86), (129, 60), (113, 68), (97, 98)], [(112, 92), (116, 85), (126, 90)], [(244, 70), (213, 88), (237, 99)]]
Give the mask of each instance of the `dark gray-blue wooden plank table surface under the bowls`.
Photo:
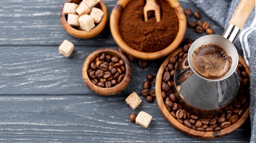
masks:
[[(236, 132), (215, 140), (188, 137), (163, 118), (156, 101), (145, 100), (132, 110), (125, 98), (141, 92), (146, 74), (156, 74), (164, 58), (146, 68), (132, 65), (129, 85), (118, 95), (96, 95), (83, 82), (85, 58), (99, 48), (118, 49), (109, 22), (92, 39), (76, 39), (65, 32), (59, 20), (64, 0), (0, 0), (0, 142), (110, 143), (110, 142), (249, 142), (249, 120)], [(117, 0), (103, 0), (108, 15)], [(183, 8), (200, 11), (189, 0)], [(201, 11), (200, 11), (201, 12)], [(223, 29), (201, 13), (216, 34)], [(189, 17), (189, 20), (194, 20)], [(193, 40), (205, 35), (188, 28)], [(70, 58), (58, 53), (64, 39), (75, 45)], [(129, 121), (130, 113), (153, 115), (149, 128)]]

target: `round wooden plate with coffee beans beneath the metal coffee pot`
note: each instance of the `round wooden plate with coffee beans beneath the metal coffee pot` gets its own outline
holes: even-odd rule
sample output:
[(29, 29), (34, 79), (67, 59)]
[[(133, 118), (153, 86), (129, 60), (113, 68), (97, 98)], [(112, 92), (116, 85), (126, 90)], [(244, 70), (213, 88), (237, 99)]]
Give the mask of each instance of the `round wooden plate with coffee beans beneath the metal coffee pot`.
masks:
[[(175, 94), (172, 85), (177, 63), (187, 56), (190, 44), (172, 52), (159, 68), (155, 81), (157, 105), (164, 118), (174, 128), (191, 137), (202, 139), (223, 137), (240, 128), (249, 117), (249, 67), (239, 55), (238, 72), (241, 76), (241, 86), (236, 99), (227, 110), (213, 116), (195, 115), (177, 101), (178, 95)], [(166, 72), (170, 74), (168, 82), (163, 80)]]

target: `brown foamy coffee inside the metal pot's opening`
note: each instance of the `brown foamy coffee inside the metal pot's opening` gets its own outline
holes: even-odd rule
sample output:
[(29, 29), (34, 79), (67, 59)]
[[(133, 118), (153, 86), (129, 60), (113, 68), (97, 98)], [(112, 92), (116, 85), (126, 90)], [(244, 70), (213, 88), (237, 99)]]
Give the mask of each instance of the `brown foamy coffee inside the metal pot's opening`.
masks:
[(195, 71), (208, 79), (218, 79), (229, 71), (232, 58), (216, 44), (202, 45), (192, 54)]

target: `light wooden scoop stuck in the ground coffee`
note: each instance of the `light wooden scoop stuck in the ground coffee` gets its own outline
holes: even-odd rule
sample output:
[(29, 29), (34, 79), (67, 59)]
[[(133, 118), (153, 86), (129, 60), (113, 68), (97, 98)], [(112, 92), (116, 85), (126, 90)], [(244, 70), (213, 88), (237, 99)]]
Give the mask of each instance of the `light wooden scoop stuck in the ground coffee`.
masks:
[(151, 16), (154, 14), (154, 13), (152, 13), (152, 11), (155, 11), (155, 18), (156, 18), (157, 22), (159, 22), (161, 19), (159, 5), (157, 4), (157, 2), (155, 2), (155, 0), (147, 0), (146, 5), (144, 6), (145, 22), (148, 21), (148, 16)]

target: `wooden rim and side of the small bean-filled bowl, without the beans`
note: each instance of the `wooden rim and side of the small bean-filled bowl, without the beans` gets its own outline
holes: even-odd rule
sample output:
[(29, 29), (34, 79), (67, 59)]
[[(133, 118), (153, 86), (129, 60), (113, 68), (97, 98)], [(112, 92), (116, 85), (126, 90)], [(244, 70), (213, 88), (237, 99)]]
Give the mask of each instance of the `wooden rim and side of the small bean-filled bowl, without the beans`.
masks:
[[(100, 54), (105, 53), (105, 54), (110, 54), (112, 56), (118, 56), (120, 59), (122, 59), (125, 63), (125, 68), (126, 68), (126, 73), (124, 76), (124, 79), (115, 87), (110, 87), (110, 88), (102, 88), (98, 87), (97, 85), (94, 85), (88, 76), (88, 67), (94, 59), (99, 56)], [(95, 93), (98, 93), (100, 95), (114, 95), (119, 93), (121, 90), (123, 90), (129, 83), (130, 78), (131, 78), (131, 67), (130, 67), (130, 62), (126, 58), (126, 56), (111, 48), (103, 48), (96, 50), (92, 52), (86, 59), (85, 62), (83, 63), (83, 69), (82, 69), (82, 74), (83, 74), (83, 80), (85, 84)]]

